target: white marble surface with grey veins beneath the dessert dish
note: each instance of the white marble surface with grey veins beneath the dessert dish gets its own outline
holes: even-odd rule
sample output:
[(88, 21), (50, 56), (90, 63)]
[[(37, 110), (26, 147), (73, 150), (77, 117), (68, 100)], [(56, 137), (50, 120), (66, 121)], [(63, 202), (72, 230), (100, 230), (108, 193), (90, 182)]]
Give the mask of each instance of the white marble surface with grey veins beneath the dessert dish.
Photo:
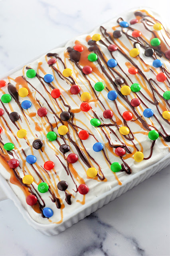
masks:
[[(140, 5), (168, 19), (168, 0), (155, 4)], [(133, 7), (137, 1), (0, 1), (0, 75)], [(0, 255), (169, 256), (169, 169), (53, 237), (30, 227), (12, 201), (0, 202)]]

